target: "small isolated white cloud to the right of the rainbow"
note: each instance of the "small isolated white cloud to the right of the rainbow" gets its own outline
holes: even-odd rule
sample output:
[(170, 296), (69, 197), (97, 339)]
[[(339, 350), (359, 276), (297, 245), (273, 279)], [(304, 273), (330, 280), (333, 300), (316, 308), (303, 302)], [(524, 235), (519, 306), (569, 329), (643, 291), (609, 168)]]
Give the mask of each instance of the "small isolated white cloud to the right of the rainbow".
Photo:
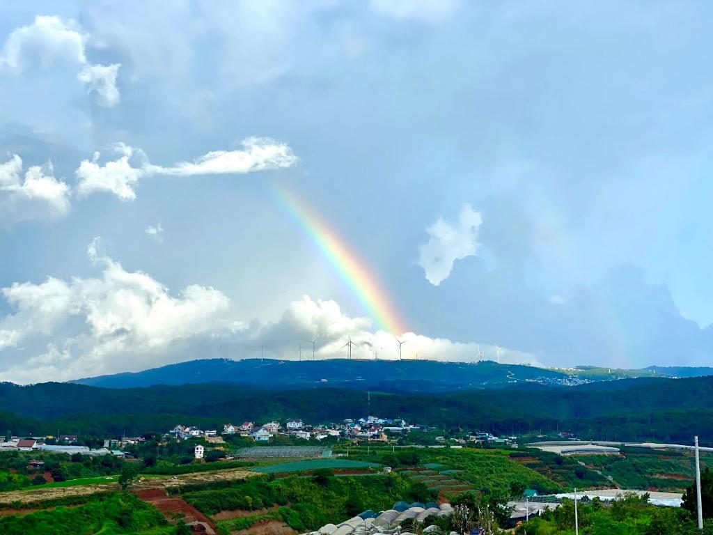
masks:
[(431, 238), (419, 245), (419, 265), (424, 268), (426, 279), (432, 285), (438, 286), (451, 275), (456, 260), (476, 254), (481, 223), (481, 214), (474, 212), (471, 205), (464, 204), (457, 225), (438, 218), (436, 223), (426, 227), (426, 233)]

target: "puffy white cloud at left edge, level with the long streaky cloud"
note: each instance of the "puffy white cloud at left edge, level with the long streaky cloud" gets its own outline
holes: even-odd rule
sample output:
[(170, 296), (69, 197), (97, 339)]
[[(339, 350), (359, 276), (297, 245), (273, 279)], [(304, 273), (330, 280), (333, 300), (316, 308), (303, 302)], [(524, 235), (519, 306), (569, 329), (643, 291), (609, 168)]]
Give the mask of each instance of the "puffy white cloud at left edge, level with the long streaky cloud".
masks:
[(58, 219), (71, 208), (69, 186), (53, 176), (51, 163), (34, 165), (23, 174), (17, 155), (0, 164), (0, 221)]

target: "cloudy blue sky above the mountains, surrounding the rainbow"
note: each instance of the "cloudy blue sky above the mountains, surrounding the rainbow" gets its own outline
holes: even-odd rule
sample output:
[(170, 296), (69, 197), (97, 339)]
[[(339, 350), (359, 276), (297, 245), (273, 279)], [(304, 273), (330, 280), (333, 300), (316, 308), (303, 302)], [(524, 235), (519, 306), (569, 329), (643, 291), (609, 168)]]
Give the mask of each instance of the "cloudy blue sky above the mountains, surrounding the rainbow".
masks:
[(277, 187), (378, 274), (409, 357), (709, 364), (709, 11), (8, 3), (0, 379), (396, 357)]

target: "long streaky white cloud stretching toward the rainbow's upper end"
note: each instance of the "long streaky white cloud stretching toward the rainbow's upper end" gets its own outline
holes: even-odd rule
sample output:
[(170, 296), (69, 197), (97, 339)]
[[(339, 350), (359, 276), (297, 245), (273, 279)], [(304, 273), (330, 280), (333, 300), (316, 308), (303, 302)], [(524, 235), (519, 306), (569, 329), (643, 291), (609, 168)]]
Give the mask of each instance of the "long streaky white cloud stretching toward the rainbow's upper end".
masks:
[(163, 167), (148, 162), (143, 151), (124, 143), (112, 148), (119, 158), (99, 163), (100, 153), (91, 161), (84, 160), (76, 170), (79, 195), (113, 193), (121, 200), (134, 200), (135, 188), (140, 178), (152, 175), (193, 176), (218, 174), (245, 174), (261, 170), (289, 168), (299, 162), (287, 143), (271, 138), (251, 137), (241, 142), (242, 150), (212, 151), (193, 163), (179, 162)]

